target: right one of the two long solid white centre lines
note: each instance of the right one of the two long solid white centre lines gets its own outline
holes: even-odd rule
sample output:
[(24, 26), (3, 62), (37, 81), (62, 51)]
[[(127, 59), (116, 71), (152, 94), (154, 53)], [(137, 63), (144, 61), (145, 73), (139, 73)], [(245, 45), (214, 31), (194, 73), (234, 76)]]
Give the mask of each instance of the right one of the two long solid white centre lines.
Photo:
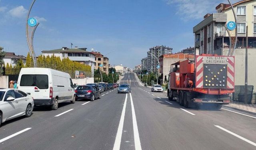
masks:
[(130, 93), (130, 98), (131, 98), (131, 105), (132, 105), (132, 123), (133, 123), (133, 134), (134, 134), (135, 150), (141, 150), (140, 136), (139, 136), (137, 120), (136, 120), (136, 115), (135, 115), (135, 110), (134, 110), (134, 105), (133, 105), (132, 94), (131, 93)]

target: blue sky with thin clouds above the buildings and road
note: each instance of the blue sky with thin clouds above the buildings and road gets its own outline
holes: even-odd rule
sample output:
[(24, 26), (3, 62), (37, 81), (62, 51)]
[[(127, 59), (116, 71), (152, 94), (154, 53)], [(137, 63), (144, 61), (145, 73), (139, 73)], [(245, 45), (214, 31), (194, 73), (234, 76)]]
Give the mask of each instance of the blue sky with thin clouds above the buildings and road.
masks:
[[(237, 2), (238, 0), (231, 0)], [(0, 0), (0, 46), (28, 53), (25, 25), (32, 0)], [(133, 68), (149, 48), (165, 45), (178, 52), (194, 46), (193, 27), (226, 0), (36, 0), (30, 17), (40, 25), (36, 55), (62, 46), (94, 48), (110, 64)], [(197, 9), (196, 9), (197, 8)], [(200, 9), (199, 9), (200, 8)]]

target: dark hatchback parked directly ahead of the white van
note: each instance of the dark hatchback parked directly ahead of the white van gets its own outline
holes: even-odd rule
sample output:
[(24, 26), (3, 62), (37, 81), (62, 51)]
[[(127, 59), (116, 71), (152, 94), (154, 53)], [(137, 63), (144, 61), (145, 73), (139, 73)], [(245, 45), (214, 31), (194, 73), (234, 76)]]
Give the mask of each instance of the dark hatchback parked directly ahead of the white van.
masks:
[(94, 85), (78, 86), (75, 92), (76, 100), (90, 99), (90, 101), (94, 101), (95, 98), (101, 98), (100, 90)]

